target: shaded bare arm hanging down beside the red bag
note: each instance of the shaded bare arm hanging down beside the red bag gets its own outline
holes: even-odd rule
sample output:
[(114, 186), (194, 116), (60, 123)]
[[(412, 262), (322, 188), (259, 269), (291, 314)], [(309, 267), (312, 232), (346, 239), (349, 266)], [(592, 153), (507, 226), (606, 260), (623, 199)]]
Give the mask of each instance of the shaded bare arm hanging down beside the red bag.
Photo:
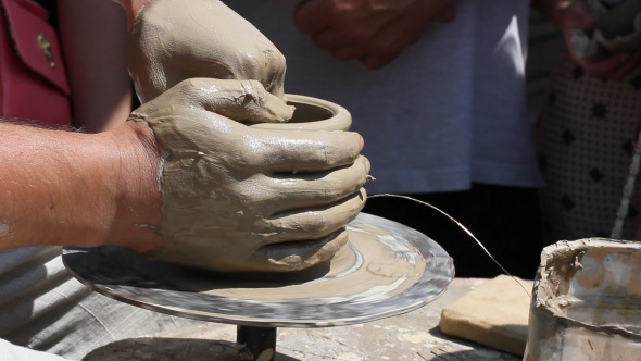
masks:
[(110, 0), (61, 0), (58, 11), (75, 126), (96, 133), (124, 123), (131, 111), (125, 12)]

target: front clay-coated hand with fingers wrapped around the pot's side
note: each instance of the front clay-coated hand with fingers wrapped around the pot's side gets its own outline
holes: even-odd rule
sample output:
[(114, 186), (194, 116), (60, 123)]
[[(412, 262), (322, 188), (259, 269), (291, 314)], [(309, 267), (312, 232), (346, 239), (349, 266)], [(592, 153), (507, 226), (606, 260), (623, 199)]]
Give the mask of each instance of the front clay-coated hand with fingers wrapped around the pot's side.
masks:
[(280, 130), (292, 109), (255, 80), (180, 83), (131, 117), (166, 153), (163, 246), (151, 257), (214, 271), (292, 271), (330, 259), (361, 211), (369, 163), (343, 130)]

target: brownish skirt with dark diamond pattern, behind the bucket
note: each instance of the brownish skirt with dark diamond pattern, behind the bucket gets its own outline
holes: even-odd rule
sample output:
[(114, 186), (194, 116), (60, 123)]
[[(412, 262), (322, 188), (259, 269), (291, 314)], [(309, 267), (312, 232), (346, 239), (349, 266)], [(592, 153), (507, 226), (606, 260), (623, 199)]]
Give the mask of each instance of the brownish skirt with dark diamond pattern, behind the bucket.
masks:
[[(545, 177), (540, 199), (548, 244), (609, 237), (640, 115), (641, 72), (624, 82), (604, 82), (586, 75), (569, 58), (556, 66), (536, 128)], [(634, 239), (640, 201), (637, 176), (624, 239)]]

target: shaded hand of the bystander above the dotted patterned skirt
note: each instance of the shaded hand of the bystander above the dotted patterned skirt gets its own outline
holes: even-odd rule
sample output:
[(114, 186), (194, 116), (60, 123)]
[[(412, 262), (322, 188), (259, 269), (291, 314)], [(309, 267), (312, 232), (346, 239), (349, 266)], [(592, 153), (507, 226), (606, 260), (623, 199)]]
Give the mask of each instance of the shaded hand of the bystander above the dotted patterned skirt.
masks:
[(600, 60), (578, 57), (571, 41), (573, 33), (577, 29), (590, 32), (594, 28), (592, 11), (583, 1), (576, 0), (555, 1), (550, 8), (549, 15), (563, 32), (570, 57), (586, 74), (603, 79), (620, 80), (641, 64), (641, 50), (633, 53), (623, 52)]

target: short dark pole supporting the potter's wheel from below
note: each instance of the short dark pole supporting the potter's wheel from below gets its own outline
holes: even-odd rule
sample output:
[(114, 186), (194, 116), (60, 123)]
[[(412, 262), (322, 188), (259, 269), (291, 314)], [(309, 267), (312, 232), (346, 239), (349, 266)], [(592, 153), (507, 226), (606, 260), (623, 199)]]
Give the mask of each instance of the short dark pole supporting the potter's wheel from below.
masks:
[(276, 327), (237, 326), (236, 361), (276, 360)]

